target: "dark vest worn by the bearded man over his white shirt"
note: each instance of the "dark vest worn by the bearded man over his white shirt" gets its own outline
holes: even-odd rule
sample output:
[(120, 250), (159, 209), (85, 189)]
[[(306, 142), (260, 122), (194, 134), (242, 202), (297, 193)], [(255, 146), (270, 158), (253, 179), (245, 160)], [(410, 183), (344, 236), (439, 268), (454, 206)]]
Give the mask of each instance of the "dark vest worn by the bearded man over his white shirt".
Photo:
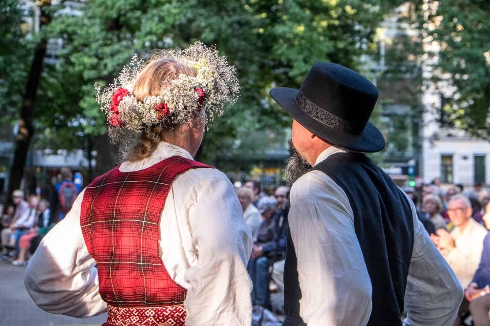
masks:
[[(393, 180), (363, 153), (335, 153), (317, 164), (345, 192), (372, 284), (368, 326), (401, 326), (405, 287), (414, 244), (410, 203)], [(283, 326), (305, 326), (299, 316), (301, 291), (291, 235), (284, 267)], [(315, 286), (315, 284), (308, 284)]]

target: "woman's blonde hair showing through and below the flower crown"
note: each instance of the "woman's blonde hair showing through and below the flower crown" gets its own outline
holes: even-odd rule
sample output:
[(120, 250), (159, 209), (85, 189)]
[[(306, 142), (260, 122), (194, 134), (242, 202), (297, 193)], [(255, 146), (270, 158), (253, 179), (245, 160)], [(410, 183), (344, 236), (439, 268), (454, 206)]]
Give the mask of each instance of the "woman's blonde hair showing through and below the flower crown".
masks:
[[(169, 86), (170, 81), (178, 79), (182, 74), (196, 77), (196, 70), (176, 59), (169, 59), (168, 55), (163, 52), (157, 52), (152, 55), (145, 68), (136, 77), (132, 90), (133, 95), (141, 101), (147, 96), (156, 96), (163, 88)], [(170, 130), (171, 127), (175, 126), (158, 124), (143, 131), (140, 140), (125, 160), (135, 162), (149, 157), (160, 142), (162, 132)]]

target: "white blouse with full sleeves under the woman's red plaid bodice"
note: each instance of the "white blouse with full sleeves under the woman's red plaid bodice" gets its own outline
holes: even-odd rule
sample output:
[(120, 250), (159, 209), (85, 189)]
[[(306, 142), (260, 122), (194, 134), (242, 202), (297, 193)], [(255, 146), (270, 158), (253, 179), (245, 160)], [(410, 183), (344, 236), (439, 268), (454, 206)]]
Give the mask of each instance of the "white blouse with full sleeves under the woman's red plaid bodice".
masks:
[[(145, 169), (189, 152), (160, 142), (151, 157), (120, 170)], [(84, 192), (43, 239), (25, 274), (25, 286), (42, 309), (73, 317), (107, 310), (98, 293), (96, 261), (80, 229)], [(252, 238), (232, 184), (216, 169), (191, 169), (172, 182), (160, 220), (160, 256), (172, 280), (188, 290), (186, 325), (251, 324), (251, 283), (246, 264)]]

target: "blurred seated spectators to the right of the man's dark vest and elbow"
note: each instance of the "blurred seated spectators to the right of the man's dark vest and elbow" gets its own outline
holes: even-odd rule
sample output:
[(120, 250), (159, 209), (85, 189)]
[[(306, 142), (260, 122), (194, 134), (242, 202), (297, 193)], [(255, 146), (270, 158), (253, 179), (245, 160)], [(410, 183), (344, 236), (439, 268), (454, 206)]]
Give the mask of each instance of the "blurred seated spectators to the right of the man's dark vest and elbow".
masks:
[(418, 219), (465, 288), (453, 326), (490, 326), (490, 191), (481, 184), (405, 189)]

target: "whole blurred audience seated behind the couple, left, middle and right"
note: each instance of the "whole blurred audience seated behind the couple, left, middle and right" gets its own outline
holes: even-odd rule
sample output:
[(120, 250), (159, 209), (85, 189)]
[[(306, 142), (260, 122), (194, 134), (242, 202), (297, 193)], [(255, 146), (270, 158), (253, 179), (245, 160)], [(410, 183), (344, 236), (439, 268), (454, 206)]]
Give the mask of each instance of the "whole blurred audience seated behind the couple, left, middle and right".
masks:
[[(265, 194), (259, 181), (250, 180), (235, 189), (253, 237), (247, 265), (253, 283), (252, 303), (282, 313), (282, 307), (272, 307), (270, 293), (284, 290), (290, 188), (280, 186), (272, 194)], [(436, 178), (431, 184), (404, 191), (415, 204), (414, 213), (465, 288), (465, 299), (453, 326), (490, 326), (490, 190), (480, 184), (467, 189), (443, 185)], [(12, 204), (0, 207), (1, 259), (25, 266), (49, 229), (65, 217), (79, 192), (67, 168), (61, 169), (49, 199), (14, 191)]]

